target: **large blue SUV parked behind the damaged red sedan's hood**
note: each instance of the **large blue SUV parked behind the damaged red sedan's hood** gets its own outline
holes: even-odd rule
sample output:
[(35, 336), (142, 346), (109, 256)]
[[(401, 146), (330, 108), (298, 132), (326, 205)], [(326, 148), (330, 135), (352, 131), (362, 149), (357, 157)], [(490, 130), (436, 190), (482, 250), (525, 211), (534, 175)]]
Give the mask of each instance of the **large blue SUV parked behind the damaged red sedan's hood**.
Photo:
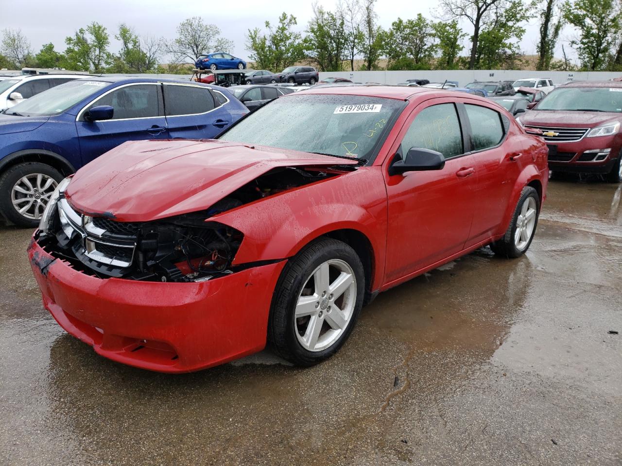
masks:
[(0, 213), (36, 226), (58, 182), (111, 148), (213, 138), (246, 113), (226, 89), (192, 81), (97, 77), (49, 89), (0, 114)]

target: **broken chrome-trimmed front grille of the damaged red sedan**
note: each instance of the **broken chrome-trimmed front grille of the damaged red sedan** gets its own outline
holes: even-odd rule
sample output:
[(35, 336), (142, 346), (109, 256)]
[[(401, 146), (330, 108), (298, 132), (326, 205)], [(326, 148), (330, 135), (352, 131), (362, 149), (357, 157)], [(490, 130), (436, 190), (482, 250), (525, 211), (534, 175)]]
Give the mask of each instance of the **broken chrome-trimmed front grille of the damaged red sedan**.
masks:
[[(79, 243), (73, 246), (76, 254), (80, 252), (91, 260), (115, 267), (129, 267), (132, 264), (136, 249), (137, 227), (133, 230), (134, 235), (126, 235), (127, 239), (115, 239), (114, 236), (111, 237), (108, 234), (107, 229), (102, 227), (103, 224), (95, 221), (98, 217), (76, 212), (66, 199), (58, 201), (58, 218), (63, 233), (69, 239), (79, 239)], [(75, 249), (76, 247), (79, 251)]]

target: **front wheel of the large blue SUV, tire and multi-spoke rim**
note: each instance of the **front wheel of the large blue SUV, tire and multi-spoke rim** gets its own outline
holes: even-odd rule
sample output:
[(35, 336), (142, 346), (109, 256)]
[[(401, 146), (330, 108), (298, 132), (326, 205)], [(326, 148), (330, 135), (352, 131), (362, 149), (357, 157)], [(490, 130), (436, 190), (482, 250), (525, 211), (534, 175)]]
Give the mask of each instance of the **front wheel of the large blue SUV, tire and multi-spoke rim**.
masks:
[(50, 196), (63, 179), (45, 163), (20, 163), (0, 177), (0, 211), (22, 227), (36, 227)]

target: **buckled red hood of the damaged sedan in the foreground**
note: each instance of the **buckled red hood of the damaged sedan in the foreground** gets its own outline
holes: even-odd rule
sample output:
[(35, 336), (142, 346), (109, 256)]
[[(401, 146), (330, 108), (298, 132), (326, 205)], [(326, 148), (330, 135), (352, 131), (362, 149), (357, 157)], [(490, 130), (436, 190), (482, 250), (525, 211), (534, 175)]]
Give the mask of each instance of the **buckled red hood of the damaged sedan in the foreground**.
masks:
[(236, 142), (126, 142), (77, 171), (65, 195), (73, 208), (126, 222), (206, 209), (275, 167), (355, 164), (326, 155)]

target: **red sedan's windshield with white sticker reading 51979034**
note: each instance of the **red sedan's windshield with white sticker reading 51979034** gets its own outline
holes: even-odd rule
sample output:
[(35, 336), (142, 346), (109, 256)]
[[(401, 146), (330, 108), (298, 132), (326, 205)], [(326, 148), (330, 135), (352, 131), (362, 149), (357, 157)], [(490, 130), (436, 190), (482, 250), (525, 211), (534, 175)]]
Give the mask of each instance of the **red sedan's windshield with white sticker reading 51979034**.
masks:
[(289, 94), (218, 139), (371, 160), (404, 105), (377, 97)]

